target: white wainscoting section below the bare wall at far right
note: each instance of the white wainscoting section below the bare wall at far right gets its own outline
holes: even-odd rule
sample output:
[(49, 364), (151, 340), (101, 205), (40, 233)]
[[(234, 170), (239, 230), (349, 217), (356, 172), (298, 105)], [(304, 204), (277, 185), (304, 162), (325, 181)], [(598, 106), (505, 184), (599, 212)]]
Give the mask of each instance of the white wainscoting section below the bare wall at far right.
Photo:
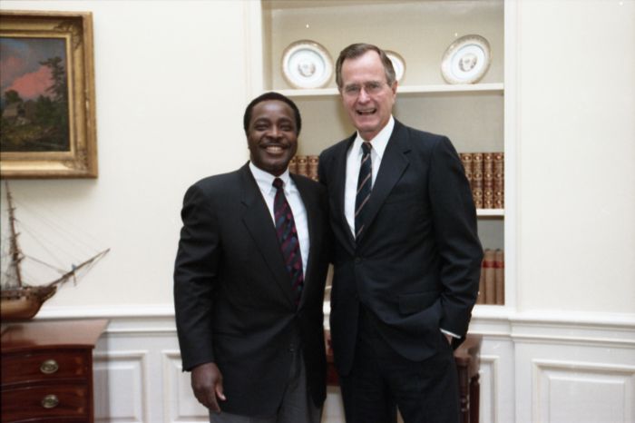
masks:
[(519, 320), (512, 338), (517, 422), (635, 422), (632, 324)]

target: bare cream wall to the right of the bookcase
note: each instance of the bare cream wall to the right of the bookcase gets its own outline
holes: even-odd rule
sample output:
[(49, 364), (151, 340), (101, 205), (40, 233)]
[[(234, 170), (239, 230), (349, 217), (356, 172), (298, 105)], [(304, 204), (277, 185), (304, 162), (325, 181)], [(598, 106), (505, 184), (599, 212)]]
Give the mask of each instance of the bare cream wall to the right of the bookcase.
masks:
[(517, 304), (635, 312), (635, 2), (519, 9)]

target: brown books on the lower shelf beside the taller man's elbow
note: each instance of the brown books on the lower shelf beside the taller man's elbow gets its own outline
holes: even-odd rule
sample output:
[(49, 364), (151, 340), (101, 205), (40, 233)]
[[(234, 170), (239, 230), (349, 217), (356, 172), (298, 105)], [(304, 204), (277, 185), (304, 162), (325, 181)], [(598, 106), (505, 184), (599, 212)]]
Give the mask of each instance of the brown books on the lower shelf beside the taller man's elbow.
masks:
[(505, 260), (501, 249), (485, 249), (476, 304), (505, 303)]

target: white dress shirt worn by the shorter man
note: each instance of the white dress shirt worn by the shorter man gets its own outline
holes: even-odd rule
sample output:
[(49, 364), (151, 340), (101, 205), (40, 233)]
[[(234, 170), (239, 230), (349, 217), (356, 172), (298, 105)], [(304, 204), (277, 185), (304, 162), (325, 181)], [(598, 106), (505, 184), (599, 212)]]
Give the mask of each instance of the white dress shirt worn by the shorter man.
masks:
[[(273, 186), (273, 180), (276, 179), (276, 177), (269, 172), (257, 168), (252, 162), (249, 162), (249, 170), (258, 183), (260, 192), (262, 192), (262, 198), (267, 203), (267, 208), (269, 209), (269, 213), (271, 213), (271, 221), (275, 226), (276, 218), (273, 213), (273, 202), (276, 198), (276, 187)], [(307, 209), (304, 207), (304, 202), (302, 202), (298, 187), (291, 179), (288, 170), (278, 176), (278, 178), (284, 182), (283, 190), (291, 212), (293, 212), (293, 220), (296, 222), (296, 231), (298, 231), (298, 241), (300, 243), (300, 255), (302, 256), (302, 271), (306, 274), (309, 246)]]

